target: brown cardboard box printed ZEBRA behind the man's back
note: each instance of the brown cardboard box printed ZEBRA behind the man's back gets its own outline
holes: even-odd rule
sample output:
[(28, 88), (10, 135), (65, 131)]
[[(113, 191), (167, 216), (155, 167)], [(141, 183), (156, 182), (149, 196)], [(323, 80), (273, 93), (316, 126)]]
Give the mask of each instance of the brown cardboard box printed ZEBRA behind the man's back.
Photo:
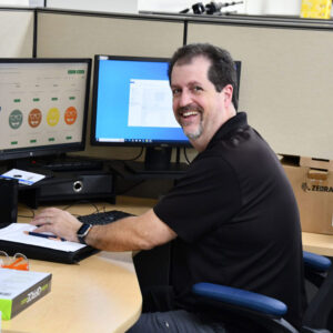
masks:
[(302, 231), (333, 234), (333, 163), (301, 158), (299, 164), (282, 159), (293, 186)]

